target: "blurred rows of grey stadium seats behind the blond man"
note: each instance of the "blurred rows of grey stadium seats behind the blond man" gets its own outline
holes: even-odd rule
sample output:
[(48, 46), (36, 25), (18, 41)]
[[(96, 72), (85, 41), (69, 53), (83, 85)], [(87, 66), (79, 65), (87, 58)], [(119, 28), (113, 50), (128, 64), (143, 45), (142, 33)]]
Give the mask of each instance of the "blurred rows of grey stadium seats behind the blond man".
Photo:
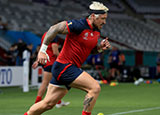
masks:
[[(82, 17), (80, 14), (86, 14), (87, 6), (91, 1), (0, 0), (0, 16), (8, 22), (10, 30), (30, 31), (40, 36), (57, 19), (69, 20)], [(119, 49), (160, 51), (159, 26), (156, 21), (145, 19), (152, 13), (152, 16), (160, 13), (158, 0), (156, 4), (151, 3), (151, 0), (99, 1), (107, 4), (110, 9), (102, 36), (109, 36), (111, 43), (116, 44)], [(137, 18), (136, 15), (127, 14), (127, 5), (136, 13), (141, 13), (143, 20)]]

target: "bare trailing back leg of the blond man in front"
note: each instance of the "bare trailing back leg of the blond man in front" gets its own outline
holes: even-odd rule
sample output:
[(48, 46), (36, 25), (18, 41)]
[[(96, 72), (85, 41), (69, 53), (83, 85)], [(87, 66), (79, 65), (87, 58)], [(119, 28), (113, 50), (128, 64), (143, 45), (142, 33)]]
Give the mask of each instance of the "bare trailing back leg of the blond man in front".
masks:
[(44, 100), (35, 103), (31, 106), (28, 115), (41, 115), (43, 112), (52, 109), (54, 105), (62, 99), (68, 92), (65, 88), (56, 87), (53, 84), (49, 84), (47, 94)]

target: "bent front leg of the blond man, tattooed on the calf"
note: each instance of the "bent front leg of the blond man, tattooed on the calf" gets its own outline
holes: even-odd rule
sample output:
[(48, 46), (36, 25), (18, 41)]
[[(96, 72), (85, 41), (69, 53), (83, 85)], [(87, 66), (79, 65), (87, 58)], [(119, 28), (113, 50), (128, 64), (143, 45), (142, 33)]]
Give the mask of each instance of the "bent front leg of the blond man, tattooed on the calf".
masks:
[(101, 90), (99, 83), (88, 73), (83, 72), (70, 86), (87, 92), (84, 99), (83, 111), (91, 112)]

